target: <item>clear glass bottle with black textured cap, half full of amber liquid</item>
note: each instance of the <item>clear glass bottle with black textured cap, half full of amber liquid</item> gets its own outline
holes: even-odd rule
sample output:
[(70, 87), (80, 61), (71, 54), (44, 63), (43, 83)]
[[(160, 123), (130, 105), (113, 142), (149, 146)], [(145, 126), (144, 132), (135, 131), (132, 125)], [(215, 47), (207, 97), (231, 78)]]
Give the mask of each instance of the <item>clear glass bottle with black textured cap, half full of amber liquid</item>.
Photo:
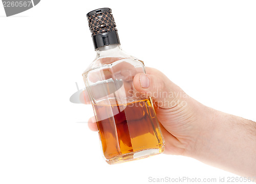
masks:
[(101, 148), (108, 164), (122, 163), (164, 150), (164, 139), (151, 98), (133, 85), (144, 63), (123, 52), (110, 8), (87, 14), (96, 59), (83, 72), (93, 106)]

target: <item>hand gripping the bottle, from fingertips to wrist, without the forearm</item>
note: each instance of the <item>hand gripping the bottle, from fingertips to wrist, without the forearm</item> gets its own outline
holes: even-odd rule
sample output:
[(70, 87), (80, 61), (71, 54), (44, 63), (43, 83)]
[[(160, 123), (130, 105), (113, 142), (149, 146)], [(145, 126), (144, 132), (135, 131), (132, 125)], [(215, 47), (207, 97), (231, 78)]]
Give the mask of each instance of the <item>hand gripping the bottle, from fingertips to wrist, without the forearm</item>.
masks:
[[(164, 153), (187, 155), (193, 152), (197, 138), (206, 128), (205, 112), (211, 110), (189, 97), (162, 72), (146, 68), (146, 74), (138, 73), (134, 87), (145, 97), (152, 97), (157, 118), (165, 139)], [(200, 113), (204, 111), (204, 113)], [(89, 119), (90, 129), (97, 131), (95, 118)]]

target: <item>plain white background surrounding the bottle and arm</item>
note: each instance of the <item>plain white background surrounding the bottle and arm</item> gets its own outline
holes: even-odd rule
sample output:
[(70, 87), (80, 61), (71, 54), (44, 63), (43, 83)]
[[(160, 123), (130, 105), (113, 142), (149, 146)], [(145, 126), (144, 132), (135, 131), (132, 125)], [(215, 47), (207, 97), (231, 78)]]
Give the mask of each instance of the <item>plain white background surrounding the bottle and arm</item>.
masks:
[[(46, 1), (0, 7), (0, 183), (149, 183), (236, 176), (183, 156), (103, 161), (69, 97), (95, 57), (86, 14), (110, 7), (122, 48), (206, 106), (256, 120), (255, 1)], [(223, 140), (225, 141), (225, 140)]]

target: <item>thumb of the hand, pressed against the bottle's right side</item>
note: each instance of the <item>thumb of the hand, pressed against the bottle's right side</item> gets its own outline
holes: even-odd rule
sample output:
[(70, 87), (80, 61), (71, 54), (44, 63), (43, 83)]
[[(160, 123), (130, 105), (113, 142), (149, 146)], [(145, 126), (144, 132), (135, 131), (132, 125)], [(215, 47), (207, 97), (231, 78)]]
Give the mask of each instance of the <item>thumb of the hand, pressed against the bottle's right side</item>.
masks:
[(137, 73), (134, 76), (135, 89), (146, 98), (152, 97), (154, 104), (162, 109), (177, 106), (185, 93), (163, 73)]

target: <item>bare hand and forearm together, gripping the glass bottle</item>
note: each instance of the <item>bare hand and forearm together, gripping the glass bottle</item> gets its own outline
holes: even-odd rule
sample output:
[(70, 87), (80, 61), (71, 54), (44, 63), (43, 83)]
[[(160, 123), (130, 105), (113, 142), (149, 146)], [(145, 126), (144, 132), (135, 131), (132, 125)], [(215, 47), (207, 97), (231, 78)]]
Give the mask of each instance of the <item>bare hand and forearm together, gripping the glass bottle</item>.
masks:
[[(153, 99), (165, 139), (164, 153), (256, 177), (255, 122), (204, 106), (154, 68), (137, 73), (133, 83), (138, 92)], [(94, 117), (88, 125), (97, 131)]]

